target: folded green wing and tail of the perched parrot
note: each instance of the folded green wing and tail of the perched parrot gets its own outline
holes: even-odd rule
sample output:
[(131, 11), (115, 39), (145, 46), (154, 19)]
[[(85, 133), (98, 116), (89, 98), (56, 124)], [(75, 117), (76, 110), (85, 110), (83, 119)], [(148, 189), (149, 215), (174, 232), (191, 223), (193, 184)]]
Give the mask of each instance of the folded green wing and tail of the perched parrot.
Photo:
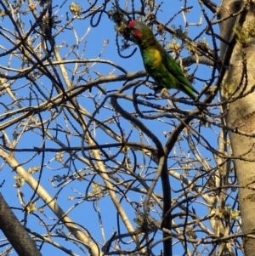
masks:
[[(191, 85), (190, 81), (184, 76), (184, 71), (181, 70), (178, 63), (167, 54), (166, 50), (161, 50), (161, 61), (165, 65), (167, 71), (177, 79), (178, 88), (185, 94), (190, 95), (195, 100), (195, 94), (199, 94), (197, 90)], [(195, 94), (194, 94), (195, 93)]]

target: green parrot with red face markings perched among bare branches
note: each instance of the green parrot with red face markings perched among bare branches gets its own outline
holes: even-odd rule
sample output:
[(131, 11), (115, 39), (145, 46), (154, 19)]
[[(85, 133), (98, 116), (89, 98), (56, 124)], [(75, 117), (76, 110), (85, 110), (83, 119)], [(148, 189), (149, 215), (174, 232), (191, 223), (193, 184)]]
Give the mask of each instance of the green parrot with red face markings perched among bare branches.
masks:
[(195, 94), (199, 93), (184, 76), (178, 63), (158, 43), (150, 27), (136, 20), (130, 21), (128, 27), (139, 45), (145, 70), (158, 86), (160, 88), (176, 88), (195, 100)]

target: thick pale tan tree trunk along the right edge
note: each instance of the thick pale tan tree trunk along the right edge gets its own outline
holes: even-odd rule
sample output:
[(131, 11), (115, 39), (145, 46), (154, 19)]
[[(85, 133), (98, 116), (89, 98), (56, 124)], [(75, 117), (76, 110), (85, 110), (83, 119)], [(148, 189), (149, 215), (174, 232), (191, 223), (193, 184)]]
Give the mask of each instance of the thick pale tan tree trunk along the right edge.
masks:
[[(253, 3), (246, 9), (246, 2), (223, 1), (218, 19), (241, 11), (241, 14), (220, 23), (221, 37), (229, 42), (221, 43), (220, 47), (226, 68), (221, 94), (223, 100), (229, 100), (225, 105), (225, 122), (232, 129), (229, 139), (240, 187), (242, 230), (252, 233), (255, 230), (255, 93), (252, 89), (255, 85), (255, 40), (252, 37), (255, 12)], [(245, 255), (254, 255), (255, 240), (245, 237), (243, 242)]]

